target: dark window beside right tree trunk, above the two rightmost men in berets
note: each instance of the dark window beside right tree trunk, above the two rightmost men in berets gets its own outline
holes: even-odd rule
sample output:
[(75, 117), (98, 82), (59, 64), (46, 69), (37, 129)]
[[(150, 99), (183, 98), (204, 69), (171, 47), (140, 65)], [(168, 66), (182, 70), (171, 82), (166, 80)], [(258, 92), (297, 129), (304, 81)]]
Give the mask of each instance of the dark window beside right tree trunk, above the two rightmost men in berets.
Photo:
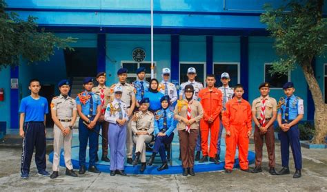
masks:
[(285, 83), (289, 81), (289, 73), (286, 74), (271, 74), (273, 64), (265, 63), (264, 65), (264, 82), (268, 82), (271, 88), (281, 89)]

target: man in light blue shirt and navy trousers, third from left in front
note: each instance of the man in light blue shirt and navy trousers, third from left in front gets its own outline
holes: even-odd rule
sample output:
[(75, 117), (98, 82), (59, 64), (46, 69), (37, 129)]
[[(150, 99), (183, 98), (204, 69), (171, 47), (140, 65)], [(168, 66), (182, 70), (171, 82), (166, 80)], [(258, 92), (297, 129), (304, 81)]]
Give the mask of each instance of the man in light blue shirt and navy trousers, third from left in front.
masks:
[(101, 115), (101, 99), (92, 92), (93, 78), (86, 77), (83, 81), (84, 91), (76, 98), (77, 112), (79, 114), (79, 174), (86, 172), (86, 147), (89, 140), (89, 167), (88, 171), (101, 173), (95, 167), (97, 145), (99, 145), (99, 124), (97, 120)]

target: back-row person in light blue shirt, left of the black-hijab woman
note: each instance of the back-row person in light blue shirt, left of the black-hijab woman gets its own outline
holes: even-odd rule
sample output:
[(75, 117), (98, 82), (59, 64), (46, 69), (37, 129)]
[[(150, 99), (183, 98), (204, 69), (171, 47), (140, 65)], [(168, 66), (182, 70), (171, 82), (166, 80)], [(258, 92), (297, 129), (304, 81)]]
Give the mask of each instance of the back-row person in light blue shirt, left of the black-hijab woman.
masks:
[(146, 68), (139, 67), (137, 69), (137, 81), (133, 82), (134, 88), (136, 89), (135, 98), (137, 100), (135, 111), (139, 109), (139, 101), (143, 98), (144, 94), (148, 92), (149, 83), (146, 81)]

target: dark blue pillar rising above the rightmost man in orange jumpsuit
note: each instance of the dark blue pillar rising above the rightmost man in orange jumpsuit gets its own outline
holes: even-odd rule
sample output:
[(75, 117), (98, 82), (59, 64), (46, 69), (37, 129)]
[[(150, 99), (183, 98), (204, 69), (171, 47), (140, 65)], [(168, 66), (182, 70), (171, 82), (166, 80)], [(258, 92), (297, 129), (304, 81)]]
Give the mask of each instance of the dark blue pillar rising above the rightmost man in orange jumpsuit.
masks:
[(244, 95), (243, 98), (248, 100), (248, 36), (240, 37), (241, 43), (241, 85), (244, 87)]

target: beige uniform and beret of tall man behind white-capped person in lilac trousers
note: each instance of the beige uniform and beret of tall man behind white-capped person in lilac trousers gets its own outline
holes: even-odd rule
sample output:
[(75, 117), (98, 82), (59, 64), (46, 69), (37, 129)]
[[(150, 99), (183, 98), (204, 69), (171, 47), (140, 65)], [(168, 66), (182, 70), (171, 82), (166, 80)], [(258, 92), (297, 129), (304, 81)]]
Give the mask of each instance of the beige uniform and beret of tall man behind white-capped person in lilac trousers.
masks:
[[(127, 73), (126, 68), (121, 68), (117, 71), (117, 75)], [(126, 104), (127, 111), (130, 109), (132, 103), (132, 97), (135, 96), (135, 87), (130, 83), (116, 83), (111, 85), (110, 94), (113, 94), (115, 87), (121, 87), (123, 89), (123, 94), (121, 100)], [(112, 97), (113, 98), (113, 97)], [(126, 148), (127, 148), (127, 158), (132, 158), (133, 151), (133, 141), (132, 141), (132, 129), (130, 129), (130, 120), (127, 122), (127, 136), (126, 136)]]

